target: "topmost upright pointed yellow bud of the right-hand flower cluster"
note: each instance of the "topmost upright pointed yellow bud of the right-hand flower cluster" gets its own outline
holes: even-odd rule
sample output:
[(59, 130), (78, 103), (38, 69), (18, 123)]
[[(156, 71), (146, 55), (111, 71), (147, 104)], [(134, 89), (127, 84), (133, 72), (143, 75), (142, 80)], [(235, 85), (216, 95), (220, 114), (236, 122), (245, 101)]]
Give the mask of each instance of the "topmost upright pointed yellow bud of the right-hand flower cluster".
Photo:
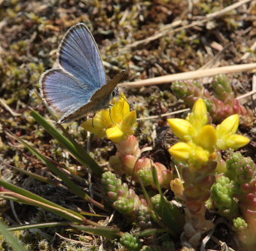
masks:
[(207, 108), (206, 102), (203, 100), (203, 98), (197, 99), (192, 108), (192, 113), (187, 116), (187, 120), (197, 129), (200, 129), (201, 126), (207, 124)]

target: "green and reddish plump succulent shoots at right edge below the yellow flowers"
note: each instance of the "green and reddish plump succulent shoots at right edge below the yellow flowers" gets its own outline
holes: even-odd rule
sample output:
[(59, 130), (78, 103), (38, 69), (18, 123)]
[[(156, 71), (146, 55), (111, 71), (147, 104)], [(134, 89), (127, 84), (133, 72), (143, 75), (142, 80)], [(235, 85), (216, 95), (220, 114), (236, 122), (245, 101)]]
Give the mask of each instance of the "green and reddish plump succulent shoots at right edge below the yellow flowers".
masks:
[[(212, 186), (212, 201), (218, 212), (233, 219), (240, 239), (248, 246), (256, 245), (256, 165), (241, 153), (231, 153), (227, 172)], [(239, 216), (242, 213), (242, 218)], [(237, 217), (237, 218), (236, 218)]]

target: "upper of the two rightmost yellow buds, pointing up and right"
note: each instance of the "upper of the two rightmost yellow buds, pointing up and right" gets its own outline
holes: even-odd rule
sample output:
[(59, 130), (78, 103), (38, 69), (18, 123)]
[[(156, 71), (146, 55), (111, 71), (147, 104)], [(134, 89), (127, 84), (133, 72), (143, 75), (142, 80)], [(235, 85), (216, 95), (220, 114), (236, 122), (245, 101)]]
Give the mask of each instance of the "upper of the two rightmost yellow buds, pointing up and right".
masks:
[(239, 115), (234, 114), (224, 119), (220, 125), (216, 127), (217, 138), (224, 138), (227, 135), (236, 133), (239, 126)]

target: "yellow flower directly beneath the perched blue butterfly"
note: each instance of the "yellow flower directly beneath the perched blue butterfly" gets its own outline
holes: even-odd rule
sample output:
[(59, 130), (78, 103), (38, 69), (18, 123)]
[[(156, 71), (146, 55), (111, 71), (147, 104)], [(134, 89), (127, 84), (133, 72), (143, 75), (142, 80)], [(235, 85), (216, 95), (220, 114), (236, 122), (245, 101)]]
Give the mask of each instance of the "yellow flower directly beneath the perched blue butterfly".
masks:
[(130, 111), (130, 105), (122, 93), (118, 101), (114, 98), (110, 109), (99, 110), (93, 119), (87, 120), (82, 126), (99, 138), (106, 136), (111, 141), (119, 142), (133, 135), (136, 118), (136, 110)]

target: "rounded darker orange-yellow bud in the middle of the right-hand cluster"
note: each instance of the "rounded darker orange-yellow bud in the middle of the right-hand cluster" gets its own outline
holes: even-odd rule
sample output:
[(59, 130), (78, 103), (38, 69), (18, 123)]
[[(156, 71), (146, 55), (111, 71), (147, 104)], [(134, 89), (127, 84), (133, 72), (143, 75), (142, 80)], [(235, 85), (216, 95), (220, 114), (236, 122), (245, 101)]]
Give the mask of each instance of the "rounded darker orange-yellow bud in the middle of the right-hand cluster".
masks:
[(217, 141), (215, 128), (211, 125), (203, 126), (198, 132), (197, 136), (193, 138), (193, 142), (204, 150), (213, 151)]

